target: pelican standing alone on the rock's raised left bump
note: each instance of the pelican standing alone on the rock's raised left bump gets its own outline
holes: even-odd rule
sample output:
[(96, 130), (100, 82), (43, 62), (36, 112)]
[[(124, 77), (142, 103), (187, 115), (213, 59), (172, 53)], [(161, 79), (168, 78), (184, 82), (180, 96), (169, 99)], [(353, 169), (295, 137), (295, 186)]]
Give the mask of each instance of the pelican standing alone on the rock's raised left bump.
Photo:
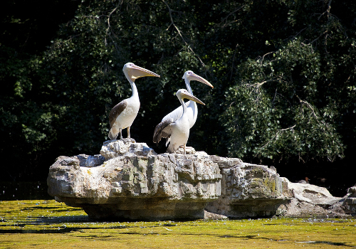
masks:
[(138, 110), (140, 109), (140, 98), (138, 97), (135, 80), (145, 76), (160, 77), (157, 73), (141, 68), (134, 63), (126, 63), (124, 68), (122, 68), (122, 71), (125, 73), (127, 80), (130, 82), (132, 96), (128, 99), (122, 100), (110, 111), (110, 132), (108, 137), (111, 140), (115, 140), (119, 132), (120, 139), (122, 139), (122, 129), (125, 128), (127, 128), (127, 138), (130, 138), (130, 127), (137, 116)]

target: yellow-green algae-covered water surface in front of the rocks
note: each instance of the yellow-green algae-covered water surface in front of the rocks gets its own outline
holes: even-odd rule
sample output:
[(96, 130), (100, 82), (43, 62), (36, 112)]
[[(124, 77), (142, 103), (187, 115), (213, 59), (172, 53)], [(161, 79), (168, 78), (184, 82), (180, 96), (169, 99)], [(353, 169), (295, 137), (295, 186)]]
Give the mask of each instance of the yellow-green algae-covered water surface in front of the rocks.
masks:
[(0, 201), (0, 248), (356, 248), (355, 219), (93, 222), (81, 208)]

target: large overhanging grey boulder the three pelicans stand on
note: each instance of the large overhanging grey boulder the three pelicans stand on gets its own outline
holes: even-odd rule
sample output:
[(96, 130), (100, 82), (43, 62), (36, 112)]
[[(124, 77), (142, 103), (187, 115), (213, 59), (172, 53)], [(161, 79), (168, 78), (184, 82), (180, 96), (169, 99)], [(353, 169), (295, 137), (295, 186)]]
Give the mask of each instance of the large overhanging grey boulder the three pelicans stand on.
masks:
[(204, 218), (206, 202), (221, 193), (219, 167), (209, 156), (132, 148), (106, 143), (100, 154), (111, 159), (90, 168), (91, 157), (59, 157), (49, 169), (48, 194), (94, 219)]

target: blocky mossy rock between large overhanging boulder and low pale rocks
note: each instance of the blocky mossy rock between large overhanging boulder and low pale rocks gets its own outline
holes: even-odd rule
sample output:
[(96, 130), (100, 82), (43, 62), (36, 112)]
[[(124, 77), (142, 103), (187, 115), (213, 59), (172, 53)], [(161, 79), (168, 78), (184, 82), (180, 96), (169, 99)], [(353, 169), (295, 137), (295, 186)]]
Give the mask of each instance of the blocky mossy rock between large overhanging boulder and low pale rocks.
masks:
[(206, 210), (229, 218), (273, 216), (290, 193), (274, 167), (246, 164), (241, 159), (210, 157), (221, 169), (221, 196)]

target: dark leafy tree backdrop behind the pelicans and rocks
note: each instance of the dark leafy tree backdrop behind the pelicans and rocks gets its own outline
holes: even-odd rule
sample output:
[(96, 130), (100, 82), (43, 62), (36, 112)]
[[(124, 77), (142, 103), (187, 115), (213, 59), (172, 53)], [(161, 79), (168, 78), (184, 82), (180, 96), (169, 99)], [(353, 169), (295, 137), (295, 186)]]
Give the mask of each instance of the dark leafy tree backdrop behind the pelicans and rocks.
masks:
[(1, 181), (44, 181), (60, 155), (98, 154), (108, 113), (140, 78), (132, 137), (155, 125), (193, 70), (189, 146), (307, 176), (337, 196), (355, 184), (356, 2), (352, 0), (16, 1), (0, 16)]

